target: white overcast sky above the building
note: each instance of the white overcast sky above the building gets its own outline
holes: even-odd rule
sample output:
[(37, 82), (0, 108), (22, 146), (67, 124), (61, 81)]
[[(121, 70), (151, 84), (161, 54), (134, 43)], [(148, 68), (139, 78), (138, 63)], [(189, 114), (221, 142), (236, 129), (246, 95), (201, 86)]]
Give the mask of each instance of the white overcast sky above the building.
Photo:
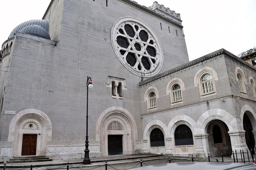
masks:
[[(154, 1), (136, 0), (146, 7)], [(221, 48), (238, 55), (256, 46), (256, 0), (157, 2), (180, 13), (190, 61)], [(20, 23), (42, 19), (49, 3), (50, 0), (1, 0), (0, 44)]]

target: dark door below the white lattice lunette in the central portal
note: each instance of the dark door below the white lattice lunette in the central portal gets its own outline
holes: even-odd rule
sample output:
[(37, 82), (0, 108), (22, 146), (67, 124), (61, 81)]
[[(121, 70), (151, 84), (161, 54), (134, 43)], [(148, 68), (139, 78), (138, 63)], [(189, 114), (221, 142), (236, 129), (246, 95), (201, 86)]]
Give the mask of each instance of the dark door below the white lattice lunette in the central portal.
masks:
[(108, 155), (123, 154), (123, 135), (108, 135)]

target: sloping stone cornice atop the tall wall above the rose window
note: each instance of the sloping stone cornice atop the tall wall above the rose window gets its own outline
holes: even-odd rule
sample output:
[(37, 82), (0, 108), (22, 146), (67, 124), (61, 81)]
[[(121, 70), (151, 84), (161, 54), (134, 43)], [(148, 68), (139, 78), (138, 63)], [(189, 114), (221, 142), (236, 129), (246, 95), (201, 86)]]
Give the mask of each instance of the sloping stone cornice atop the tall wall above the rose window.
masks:
[(132, 7), (136, 8), (138, 10), (141, 10), (145, 13), (148, 13), (148, 14), (150, 14), (150, 15), (152, 15), (152, 16), (160, 19), (160, 20), (166, 21), (167, 23), (170, 23), (170, 24), (172, 24), (176, 27), (179, 27), (181, 29), (183, 28), (183, 26), (180, 25), (179, 23), (177, 23), (176, 21), (174, 21), (170, 18), (167, 18), (167, 17), (165, 17), (161, 14), (158, 14), (158, 13), (154, 12), (153, 10), (148, 9), (146, 6), (142, 6), (142, 5), (140, 5), (140, 4), (138, 4), (134, 1), (131, 1), (131, 0), (119, 0), (119, 1), (124, 2), (125, 4), (128, 4), (129, 6), (132, 6)]

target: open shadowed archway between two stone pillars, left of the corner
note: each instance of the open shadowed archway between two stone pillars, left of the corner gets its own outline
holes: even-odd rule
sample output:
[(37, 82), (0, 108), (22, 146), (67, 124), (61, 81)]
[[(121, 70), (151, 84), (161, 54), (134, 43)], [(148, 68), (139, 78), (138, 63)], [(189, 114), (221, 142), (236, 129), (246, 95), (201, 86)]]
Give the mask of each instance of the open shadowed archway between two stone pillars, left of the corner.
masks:
[(228, 134), (228, 126), (221, 120), (214, 119), (209, 122), (207, 128), (208, 144), (211, 156), (231, 155), (232, 146)]

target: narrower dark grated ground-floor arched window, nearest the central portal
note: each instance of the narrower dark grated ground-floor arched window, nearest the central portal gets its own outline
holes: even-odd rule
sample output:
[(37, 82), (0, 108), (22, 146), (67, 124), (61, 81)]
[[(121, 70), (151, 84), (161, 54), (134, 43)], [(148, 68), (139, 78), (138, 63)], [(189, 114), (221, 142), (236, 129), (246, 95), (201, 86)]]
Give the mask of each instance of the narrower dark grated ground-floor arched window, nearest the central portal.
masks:
[(155, 128), (151, 131), (150, 146), (151, 147), (164, 147), (164, 134), (160, 129)]

